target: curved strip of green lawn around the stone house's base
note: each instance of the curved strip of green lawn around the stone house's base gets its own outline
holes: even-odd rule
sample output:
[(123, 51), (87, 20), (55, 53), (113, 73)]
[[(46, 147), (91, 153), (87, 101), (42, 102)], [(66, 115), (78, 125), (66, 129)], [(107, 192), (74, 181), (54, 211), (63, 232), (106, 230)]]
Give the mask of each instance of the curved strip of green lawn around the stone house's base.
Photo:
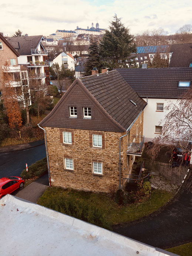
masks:
[(110, 225), (130, 222), (142, 218), (157, 210), (173, 196), (172, 193), (166, 191), (154, 190), (150, 197), (141, 203), (119, 206), (105, 193), (92, 193), (51, 187), (41, 196), (38, 200), (38, 204), (51, 208), (49, 203), (47, 203), (48, 200), (54, 197), (57, 198), (61, 194), (66, 198), (71, 197), (76, 201), (84, 201), (87, 205), (96, 206), (102, 213), (104, 213), (104, 216)]

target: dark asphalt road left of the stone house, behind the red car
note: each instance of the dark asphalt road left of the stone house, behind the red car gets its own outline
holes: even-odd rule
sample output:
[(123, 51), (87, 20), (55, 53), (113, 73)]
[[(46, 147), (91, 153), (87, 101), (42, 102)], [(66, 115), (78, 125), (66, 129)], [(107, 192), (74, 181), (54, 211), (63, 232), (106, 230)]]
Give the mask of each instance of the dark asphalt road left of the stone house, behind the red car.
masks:
[(46, 157), (45, 145), (33, 148), (0, 153), (0, 178), (4, 176), (20, 176), (27, 165)]

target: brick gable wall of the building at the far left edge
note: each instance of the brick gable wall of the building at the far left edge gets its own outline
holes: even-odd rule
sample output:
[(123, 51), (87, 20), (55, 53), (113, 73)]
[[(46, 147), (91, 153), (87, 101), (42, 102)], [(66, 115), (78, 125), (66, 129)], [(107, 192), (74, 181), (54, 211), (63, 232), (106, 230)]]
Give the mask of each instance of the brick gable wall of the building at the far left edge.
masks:
[(16, 59), (16, 64), (18, 65), (17, 61), (17, 55), (11, 51), (11, 49), (2, 41), (3, 50), (0, 50), (0, 90), (3, 86), (3, 68), (2, 65), (8, 62), (9, 65), (11, 65), (10, 59)]

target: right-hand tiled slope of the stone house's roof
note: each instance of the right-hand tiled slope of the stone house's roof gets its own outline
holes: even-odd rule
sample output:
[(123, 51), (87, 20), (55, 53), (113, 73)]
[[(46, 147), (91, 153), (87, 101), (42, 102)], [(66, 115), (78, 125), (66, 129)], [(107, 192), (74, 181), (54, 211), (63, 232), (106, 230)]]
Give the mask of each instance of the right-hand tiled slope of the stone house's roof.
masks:
[(105, 111), (125, 129), (146, 105), (116, 70), (98, 76), (82, 77), (79, 80)]

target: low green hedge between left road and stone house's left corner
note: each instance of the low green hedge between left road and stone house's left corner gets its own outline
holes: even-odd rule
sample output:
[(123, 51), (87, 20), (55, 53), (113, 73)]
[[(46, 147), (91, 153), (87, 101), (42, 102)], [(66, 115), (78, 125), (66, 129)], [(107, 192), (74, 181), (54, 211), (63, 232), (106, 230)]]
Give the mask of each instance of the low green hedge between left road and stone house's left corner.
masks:
[(21, 178), (22, 179), (32, 179), (34, 177), (41, 177), (43, 174), (48, 172), (47, 168), (47, 158), (43, 158), (34, 164), (30, 165), (28, 167), (28, 172), (26, 171), (26, 168), (21, 172)]

